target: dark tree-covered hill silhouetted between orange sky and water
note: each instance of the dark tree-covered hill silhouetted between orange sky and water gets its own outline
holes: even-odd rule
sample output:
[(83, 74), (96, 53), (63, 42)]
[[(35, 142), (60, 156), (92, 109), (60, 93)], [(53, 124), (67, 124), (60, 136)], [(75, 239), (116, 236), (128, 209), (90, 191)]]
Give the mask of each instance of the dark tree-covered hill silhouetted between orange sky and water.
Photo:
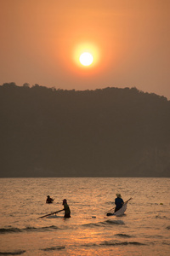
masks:
[(136, 88), (0, 86), (0, 177), (170, 177), (170, 102)]

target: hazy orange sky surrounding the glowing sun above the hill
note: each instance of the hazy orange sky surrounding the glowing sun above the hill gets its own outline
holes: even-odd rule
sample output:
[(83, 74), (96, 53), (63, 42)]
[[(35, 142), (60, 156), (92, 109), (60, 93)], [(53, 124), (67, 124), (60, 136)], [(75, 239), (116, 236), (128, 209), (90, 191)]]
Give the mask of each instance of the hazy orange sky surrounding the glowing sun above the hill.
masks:
[(0, 84), (135, 86), (170, 99), (170, 0), (0, 0), (0, 35)]

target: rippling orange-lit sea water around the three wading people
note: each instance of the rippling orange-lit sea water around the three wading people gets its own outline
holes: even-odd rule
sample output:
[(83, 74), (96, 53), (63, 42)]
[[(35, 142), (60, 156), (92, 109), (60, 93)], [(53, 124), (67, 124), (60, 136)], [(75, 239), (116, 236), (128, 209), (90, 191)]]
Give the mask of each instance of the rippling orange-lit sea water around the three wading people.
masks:
[[(170, 178), (1, 178), (0, 187), (0, 255), (170, 255)], [(116, 193), (133, 200), (107, 217)], [(64, 198), (71, 218), (38, 218)]]

